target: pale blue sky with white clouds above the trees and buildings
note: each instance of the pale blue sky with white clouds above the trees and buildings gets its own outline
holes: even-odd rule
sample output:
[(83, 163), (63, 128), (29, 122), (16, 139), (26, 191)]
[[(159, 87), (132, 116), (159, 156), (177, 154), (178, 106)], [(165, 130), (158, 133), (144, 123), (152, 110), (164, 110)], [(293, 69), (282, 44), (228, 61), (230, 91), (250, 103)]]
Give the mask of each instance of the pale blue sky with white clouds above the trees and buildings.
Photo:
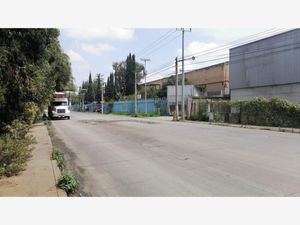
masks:
[[(181, 56), (181, 32), (176, 31), (175, 28), (86, 28), (61, 29), (60, 31), (60, 43), (64, 52), (70, 57), (72, 73), (78, 86), (83, 80), (88, 79), (89, 72), (92, 73), (93, 77), (97, 73), (101, 73), (106, 80), (109, 73), (112, 72), (112, 63), (125, 60), (129, 53), (135, 53), (139, 62), (141, 62), (140, 58), (150, 58), (151, 61), (147, 62), (149, 80), (172, 73), (174, 68), (159, 73), (155, 72), (159, 68), (164, 68), (161, 65), (171, 63), (176, 56)], [(261, 33), (265, 31), (267, 32)], [(282, 29), (192, 29), (192, 32), (185, 34), (185, 55), (194, 55), (251, 35), (255, 36), (249, 37), (249, 41), (279, 31)], [(207, 63), (195, 63), (220, 58), (226, 54), (228, 54), (228, 46), (222, 51), (196, 57), (192, 63), (185, 62), (186, 70), (226, 61), (227, 59), (224, 58)]]

